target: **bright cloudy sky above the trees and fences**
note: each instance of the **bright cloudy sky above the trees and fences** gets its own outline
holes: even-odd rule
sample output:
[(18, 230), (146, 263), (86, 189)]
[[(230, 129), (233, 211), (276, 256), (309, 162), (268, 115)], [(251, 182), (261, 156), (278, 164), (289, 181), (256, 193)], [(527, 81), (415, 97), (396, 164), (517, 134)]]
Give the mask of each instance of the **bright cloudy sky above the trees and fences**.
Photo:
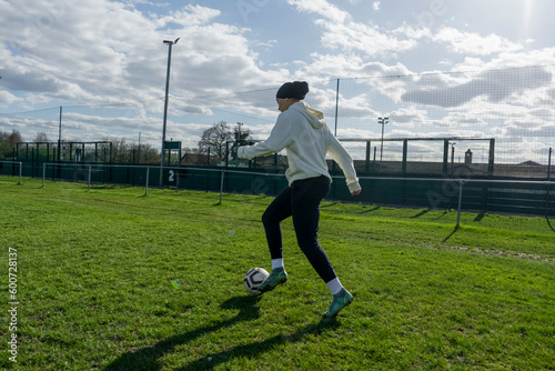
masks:
[(168, 137), (189, 147), (222, 120), (268, 136), (284, 81), (309, 81), (309, 103), (333, 114), (340, 79), (355, 118), (339, 137), (376, 138), (369, 120), (390, 116), (386, 137), (511, 137), (545, 151), (554, 13), (548, 0), (0, 0), (0, 131), (56, 141), (61, 106), (63, 139), (141, 133), (160, 147), (162, 41), (180, 38)]

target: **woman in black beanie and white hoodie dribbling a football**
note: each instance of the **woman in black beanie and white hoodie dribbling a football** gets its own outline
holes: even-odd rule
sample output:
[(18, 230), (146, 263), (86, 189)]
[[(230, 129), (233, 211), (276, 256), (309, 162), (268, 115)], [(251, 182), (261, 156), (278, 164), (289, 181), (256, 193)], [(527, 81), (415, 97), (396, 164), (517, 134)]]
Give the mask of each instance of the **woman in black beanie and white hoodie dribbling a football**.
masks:
[(320, 202), (330, 191), (332, 178), (325, 161), (329, 154), (339, 163), (346, 178), (351, 194), (361, 193), (353, 160), (331, 133), (322, 112), (306, 104), (309, 92), (305, 81), (285, 82), (276, 93), (279, 110), (268, 140), (255, 146), (240, 147), (238, 156), (252, 159), (286, 150), (289, 187), (279, 194), (262, 215), (268, 245), (272, 258), (272, 272), (259, 287), (262, 292), (273, 290), (287, 280), (283, 265), (283, 244), (280, 223), (292, 217), (299, 247), (330, 288), (333, 300), (324, 317), (334, 317), (353, 301), (353, 295), (341, 284), (327, 254), (319, 243)]

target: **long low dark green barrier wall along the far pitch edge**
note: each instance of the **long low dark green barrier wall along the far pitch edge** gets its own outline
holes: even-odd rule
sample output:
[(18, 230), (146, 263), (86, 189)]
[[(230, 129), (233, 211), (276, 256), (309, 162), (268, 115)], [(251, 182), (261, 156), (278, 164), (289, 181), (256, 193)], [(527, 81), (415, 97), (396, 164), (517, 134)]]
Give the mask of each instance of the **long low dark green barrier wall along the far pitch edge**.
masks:
[[(0, 174), (13, 176), (13, 163), (0, 163)], [(18, 164), (19, 167), (19, 164)], [(22, 164), (22, 174), (30, 176), (29, 164)], [(162, 169), (163, 183), (160, 184)], [(165, 187), (244, 194), (275, 195), (286, 186), (283, 171), (241, 170), (233, 168), (152, 167), (97, 163), (41, 164), (40, 176), (46, 181), (73, 181), (90, 189), (98, 184)], [(454, 177), (398, 178), (360, 177), (363, 192), (352, 198), (339, 172), (332, 172), (333, 183), (329, 200), (367, 204), (425, 208), (431, 210), (478, 211), (555, 217), (555, 181), (528, 179), (480, 179), (471, 172)]]

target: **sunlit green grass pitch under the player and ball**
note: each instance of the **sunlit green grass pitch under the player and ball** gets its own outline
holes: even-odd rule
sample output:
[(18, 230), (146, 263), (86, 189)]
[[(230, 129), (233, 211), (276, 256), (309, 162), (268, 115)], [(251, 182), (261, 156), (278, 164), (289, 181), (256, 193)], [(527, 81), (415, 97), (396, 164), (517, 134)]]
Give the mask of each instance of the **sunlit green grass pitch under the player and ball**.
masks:
[(272, 198), (17, 182), (0, 178), (3, 369), (555, 370), (553, 220), (463, 213), (455, 230), (455, 212), (324, 202), (355, 301), (322, 321), (331, 295), (290, 221), (290, 280), (243, 288), (270, 269)]

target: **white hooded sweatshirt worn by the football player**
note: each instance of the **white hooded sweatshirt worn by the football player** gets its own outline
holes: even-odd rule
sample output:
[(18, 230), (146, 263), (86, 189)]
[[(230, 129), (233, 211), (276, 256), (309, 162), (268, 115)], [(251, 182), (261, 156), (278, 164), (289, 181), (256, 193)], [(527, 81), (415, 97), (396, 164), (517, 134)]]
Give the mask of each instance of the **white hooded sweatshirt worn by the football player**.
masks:
[(309, 107), (303, 101), (292, 104), (280, 113), (270, 137), (255, 146), (240, 147), (241, 159), (269, 156), (286, 149), (289, 169), (285, 177), (289, 184), (295, 180), (325, 176), (327, 172), (326, 154), (339, 163), (346, 178), (351, 192), (361, 190), (351, 156), (332, 134), (324, 121), (324, 114)]

